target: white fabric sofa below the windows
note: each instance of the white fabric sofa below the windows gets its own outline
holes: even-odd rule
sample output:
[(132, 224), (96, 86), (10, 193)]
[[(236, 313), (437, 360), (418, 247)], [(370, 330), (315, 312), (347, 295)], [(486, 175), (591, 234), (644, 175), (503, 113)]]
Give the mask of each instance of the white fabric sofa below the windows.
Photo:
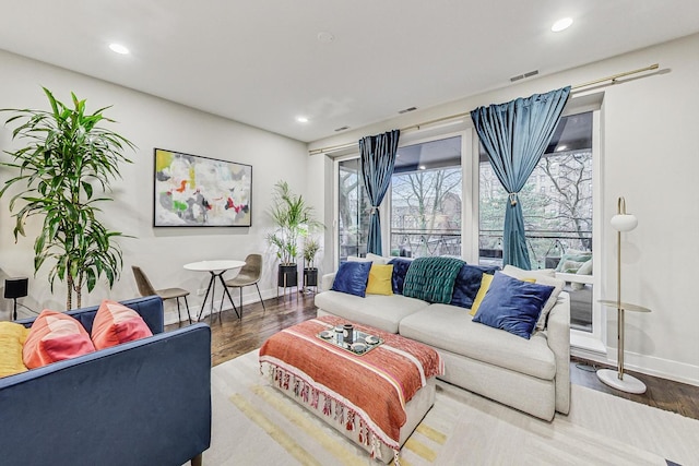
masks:
[(570, 300), (558, 296), (544, 330), (530, 339), (472, 322), (467, 309), (402, 295), (362, 298), (331, 290), (322, 277), (318, 315), (333, 314), (400, 333), (437, 349), (440, 379), (545, 420), (570, 408)]

